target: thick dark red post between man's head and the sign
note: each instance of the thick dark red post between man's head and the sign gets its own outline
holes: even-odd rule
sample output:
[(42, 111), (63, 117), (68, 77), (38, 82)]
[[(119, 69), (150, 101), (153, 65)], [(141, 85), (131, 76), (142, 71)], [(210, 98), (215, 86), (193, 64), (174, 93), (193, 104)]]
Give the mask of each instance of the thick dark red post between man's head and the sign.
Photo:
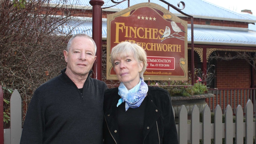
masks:
[(94, 39), (97, 52), (96, 60), (92, 67), (93, 78), (102, 80), (101, 78), (101, 65), (102, 65), (102, 10), (101, 6), (104, 4), (102, 0), (90, 0), (89, 3), (92, 5), (92, 38)]

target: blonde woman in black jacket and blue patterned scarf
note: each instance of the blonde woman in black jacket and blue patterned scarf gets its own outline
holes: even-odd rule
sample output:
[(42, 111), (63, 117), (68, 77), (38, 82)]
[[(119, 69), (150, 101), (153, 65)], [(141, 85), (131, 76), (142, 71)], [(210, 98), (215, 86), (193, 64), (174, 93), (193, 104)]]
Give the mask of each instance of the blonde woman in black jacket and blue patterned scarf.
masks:
[(143, 73), (146, 52), (135, 43), (121, 42), (111, 51), (118, 88), (104, 96), (105, 144), (178, 144), (169, 93), (147, 86)]

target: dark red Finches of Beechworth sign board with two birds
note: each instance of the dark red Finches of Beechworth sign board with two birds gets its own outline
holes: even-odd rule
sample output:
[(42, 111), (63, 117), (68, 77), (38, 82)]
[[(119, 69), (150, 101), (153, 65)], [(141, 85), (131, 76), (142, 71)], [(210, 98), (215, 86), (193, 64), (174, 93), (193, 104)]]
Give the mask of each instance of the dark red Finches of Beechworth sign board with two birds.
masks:
[(111, 49), (136, 42), (147, 53), (144, 80), (187, 80), (187, 21), (154, 3), (140, 3), (107, 17), (107, 79), (117, 80)]

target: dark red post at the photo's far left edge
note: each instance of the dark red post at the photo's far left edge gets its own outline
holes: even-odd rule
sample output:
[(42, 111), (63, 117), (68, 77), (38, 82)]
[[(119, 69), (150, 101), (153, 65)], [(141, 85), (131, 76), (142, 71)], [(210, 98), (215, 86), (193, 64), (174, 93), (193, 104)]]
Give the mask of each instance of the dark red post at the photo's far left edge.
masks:
[(4, 93), (0, 86), (0, 143), (4, 143)]

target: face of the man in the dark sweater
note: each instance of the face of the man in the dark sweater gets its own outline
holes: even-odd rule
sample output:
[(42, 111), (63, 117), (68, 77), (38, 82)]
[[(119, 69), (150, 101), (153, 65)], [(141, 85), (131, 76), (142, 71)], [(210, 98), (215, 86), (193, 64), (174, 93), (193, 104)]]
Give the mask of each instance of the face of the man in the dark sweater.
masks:
[(96, 60), (93, 42), (86, 37), (75, 37), (69, 52), (64, 50), (66, 73), (73, 78), (87, 76)]

